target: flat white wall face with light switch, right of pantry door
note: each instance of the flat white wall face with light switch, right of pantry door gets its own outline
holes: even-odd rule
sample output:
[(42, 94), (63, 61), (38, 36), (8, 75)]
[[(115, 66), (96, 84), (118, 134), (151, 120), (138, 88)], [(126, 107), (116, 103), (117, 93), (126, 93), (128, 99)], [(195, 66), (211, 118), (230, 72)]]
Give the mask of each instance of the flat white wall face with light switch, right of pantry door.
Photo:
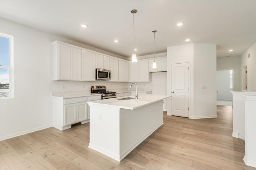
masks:
[(216, 115), (216, 45), (194, 44), (194, 118)]

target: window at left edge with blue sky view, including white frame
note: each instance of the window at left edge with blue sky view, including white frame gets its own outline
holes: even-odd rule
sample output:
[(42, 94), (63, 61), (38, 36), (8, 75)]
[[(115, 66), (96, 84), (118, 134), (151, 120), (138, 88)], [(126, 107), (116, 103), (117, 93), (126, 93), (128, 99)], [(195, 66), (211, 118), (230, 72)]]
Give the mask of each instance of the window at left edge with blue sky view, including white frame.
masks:
[(0, 98), (13, 98), (13, 36), (0, 33)]

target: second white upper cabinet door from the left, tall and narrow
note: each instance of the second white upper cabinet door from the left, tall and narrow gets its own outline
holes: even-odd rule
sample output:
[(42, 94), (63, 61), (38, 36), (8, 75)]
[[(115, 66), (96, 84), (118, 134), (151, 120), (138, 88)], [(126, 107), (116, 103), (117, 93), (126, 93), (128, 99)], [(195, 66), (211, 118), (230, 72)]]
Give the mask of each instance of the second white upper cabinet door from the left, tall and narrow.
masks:
[(71, 80), (82, 79), (82, 50), (71, 47)]

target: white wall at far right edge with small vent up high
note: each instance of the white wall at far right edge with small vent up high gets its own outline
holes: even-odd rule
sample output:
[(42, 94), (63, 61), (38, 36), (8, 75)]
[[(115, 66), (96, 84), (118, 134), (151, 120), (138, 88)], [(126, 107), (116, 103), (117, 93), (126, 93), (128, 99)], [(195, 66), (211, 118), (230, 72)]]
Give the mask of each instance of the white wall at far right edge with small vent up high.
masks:
[[(250, 53), (250, 58), (248, 54)], [(248, 50), (241, 55), (240, 64), (240, 91), (243, 90), (243, 69), (247, 66), (247, 90), (256, 91), (256, 43), (254, 43)]]

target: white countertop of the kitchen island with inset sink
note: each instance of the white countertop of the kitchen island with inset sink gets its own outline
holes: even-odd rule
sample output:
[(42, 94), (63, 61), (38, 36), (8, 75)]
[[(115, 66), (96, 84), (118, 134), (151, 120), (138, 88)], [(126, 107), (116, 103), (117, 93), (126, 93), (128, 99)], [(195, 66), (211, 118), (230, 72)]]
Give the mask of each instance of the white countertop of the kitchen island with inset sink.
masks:
[[(129, 100), (119, 100), (123, 98), (132, 97), (133, 99)], [(172, 97), (171, 95), (153, 95), (153, 94), (141, 94), (138, 96), (138, 99), (135, 99), (134, 96), (123, 96), (119, 98), (110, 98), (104, 100), (95, 100), (91, 102), (87, 102), (89, 106), (111, 106), (122, 109), (130, 109), (134, 110), (154, 102), (158, 102), (160, 100), (164, 100), (166, 98)]]

